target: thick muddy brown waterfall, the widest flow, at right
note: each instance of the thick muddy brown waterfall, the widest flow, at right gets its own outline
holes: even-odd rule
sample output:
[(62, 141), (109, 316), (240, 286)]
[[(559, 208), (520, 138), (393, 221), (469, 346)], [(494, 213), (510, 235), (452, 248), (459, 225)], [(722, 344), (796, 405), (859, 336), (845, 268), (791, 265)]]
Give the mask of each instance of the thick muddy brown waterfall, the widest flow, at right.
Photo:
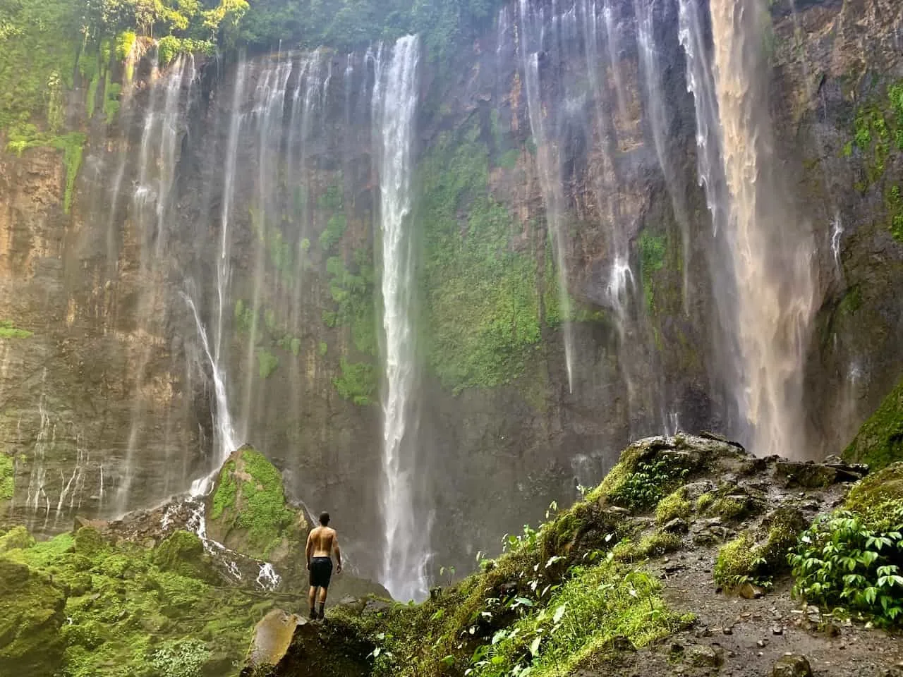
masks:
[(781, 199), (761, 54), (759, 0), (711, 0), (713, 74), (736, 280), (735, 392), (760, 456), (807, 456), (802, 371), (814, 308), (814, 243)]

